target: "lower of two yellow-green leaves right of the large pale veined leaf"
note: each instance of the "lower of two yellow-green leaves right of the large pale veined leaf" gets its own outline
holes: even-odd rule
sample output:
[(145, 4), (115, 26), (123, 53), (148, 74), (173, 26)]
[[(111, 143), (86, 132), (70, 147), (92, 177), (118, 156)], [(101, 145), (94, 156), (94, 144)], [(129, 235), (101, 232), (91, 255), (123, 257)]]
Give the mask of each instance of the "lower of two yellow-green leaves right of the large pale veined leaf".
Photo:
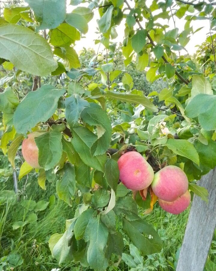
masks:
[(80, 66), (76, 51), (69, 45), (61, 45), (61, 47), (55, 47), (53, 53), (62, 58), (65, 61), (65, 65), (69, 68), (77, 68)]

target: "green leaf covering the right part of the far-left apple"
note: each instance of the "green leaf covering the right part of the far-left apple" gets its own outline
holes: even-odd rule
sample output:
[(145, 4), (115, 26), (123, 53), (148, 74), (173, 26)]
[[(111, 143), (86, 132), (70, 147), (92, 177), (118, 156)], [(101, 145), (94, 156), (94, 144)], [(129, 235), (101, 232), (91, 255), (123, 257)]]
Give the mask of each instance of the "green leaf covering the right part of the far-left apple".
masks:
[(62, 134), (55, 130), (50, 130), (35, 137), (38, 146), (38, 163), (45, 170), (53, 168), (61, 159), (62, 155)]

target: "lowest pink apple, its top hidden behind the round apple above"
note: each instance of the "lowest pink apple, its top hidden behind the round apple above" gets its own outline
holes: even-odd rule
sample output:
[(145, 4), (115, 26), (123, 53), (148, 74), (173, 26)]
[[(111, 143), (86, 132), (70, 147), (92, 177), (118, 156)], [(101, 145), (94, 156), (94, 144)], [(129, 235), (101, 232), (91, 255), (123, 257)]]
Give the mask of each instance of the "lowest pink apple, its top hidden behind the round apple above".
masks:
[(163, 210), (169, 213), (182, 213), (190, 204), (190, 192), (187, 190), (186, 193), (181, 195), (175, 201), (163, 201), (162, 199), (158, 198), (158, 203)]

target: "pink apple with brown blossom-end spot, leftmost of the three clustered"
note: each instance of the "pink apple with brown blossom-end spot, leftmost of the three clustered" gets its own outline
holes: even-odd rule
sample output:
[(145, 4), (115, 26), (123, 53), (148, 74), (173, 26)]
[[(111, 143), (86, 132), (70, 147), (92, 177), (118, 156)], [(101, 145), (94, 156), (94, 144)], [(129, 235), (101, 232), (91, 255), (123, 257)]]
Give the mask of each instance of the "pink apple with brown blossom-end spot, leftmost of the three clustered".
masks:
[(136, 151), (128, 151), (118, 160), (119, 179), (131, 190), (143, 190), (152, 183), (154, 171), (145, 158)]

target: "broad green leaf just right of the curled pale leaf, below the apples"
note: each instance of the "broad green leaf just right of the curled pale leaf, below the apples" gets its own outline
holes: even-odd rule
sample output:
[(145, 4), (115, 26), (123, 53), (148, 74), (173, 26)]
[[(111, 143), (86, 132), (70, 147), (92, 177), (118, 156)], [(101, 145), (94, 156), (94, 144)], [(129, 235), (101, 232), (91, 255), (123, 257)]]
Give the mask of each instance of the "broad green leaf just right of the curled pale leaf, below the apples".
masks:
[(125, 214), (129, 220), (139, 219), (136, 201), (131, 197), (119, 198), (113, 211), (116, 215)]

